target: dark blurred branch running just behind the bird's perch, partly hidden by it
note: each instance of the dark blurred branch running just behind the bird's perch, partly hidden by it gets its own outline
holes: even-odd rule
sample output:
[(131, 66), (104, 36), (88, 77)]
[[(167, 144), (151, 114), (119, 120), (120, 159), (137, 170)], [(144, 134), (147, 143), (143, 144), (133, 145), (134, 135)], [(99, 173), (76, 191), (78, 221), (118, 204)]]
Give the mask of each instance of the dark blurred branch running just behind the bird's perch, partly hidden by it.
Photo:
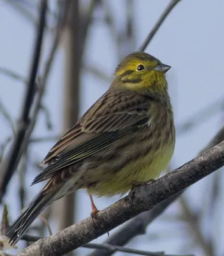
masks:
[[(224, 140), (224, 127), (218, 131), (218, 133), (214, 136), (214, 138), (207, 144), (205, 148), (203, 148), (199, 154), (209, 150), (210, 148), (214, 147), (218, 143)], [(138, 215), (137, 217), (130, 220), (124, 227), (119, 229), (115, 234), (110, 236), (105, 243), (114, 244), (114, 245), (124, 245), (128, 243), (133, 237), (138, 236), (140, 234), (144, 234), (146, 227), (161, 213), (167, 209), (167, 207), (172, 204), (180, 195), (178, 193), (174, 197), (168, 198), (161, 204), (157, 205), (151, 211), (143, 212), (142, 214)], [(95, 250), (89, 256), (98, 256), (99, 251)], [(110, 256), (112, 253), (110, 252), (101, 252), (101, 256)]]

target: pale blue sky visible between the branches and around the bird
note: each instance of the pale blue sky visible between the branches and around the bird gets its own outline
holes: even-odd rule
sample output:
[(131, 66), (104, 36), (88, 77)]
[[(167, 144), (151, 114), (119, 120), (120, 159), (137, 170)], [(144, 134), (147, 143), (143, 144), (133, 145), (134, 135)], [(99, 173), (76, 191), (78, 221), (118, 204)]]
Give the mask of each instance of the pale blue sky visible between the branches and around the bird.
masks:
[[(19, 1), (19, 0), (18, 0)], [(21, 76), (27, 77), (31, 65), (31, 54), (35, 30), (33, 24), (22, 18), (7, 1), (0, 0), (0, 68), (9, 68)], [(31, 0), (32, 2), (32, 0)], [(34, 1), (36, 3), (36, 1)], [(82, 4), (88, 1), (83, 1)], [(54, 5), (53, 0), (50, 1)], [(117, 28), (124, 26), (124, 1), (107, 1), (112, 10), (116, 13)], [(160, 17), (169, 1), (167, 0), (135, 0), (133, 19), (135, 20), (136, 45), (133, 51), (142, 44), (147, 34)], [(32, 10), (32, 8), (31, 8)], [(213, 138), (214, 134), (223, 125), (223, 59), (224, 59), (224, 1), (205, 0), (182, 0), (177, 4), (172, 13), (165, 20), (156, 36), (149, 44), (146, 52), (156, 56), (163, 63), (171, 65), (172, 68), (167, 74), (170, 97), (174, 106), (175, 125), (177, 127), (177, 140), (172, 167), (176, 168), (186, 163)], [(35, 10), (32, 10), (36, 15)], [(94, 14), (101, 15), (100, 12)], [(50, 36), (46, 34), (41, 63), (45, 62), (50, 47)], [(124, 55), (129, 52), (125, 52)], [(114, 68), (119, 63), (117, 58), (116, 45), (114, 44), (110, 31), (102, 22), (94, 22), (89, 31), (84, 53), (84, 63), (97, 65), (101, 72), (111, 77)], [(43, 68), (43, 65), (41, 65)], [(41, 71), (41, 70), (40, 70)], [(44, 104), (49, 109), (53, 129), (48, 131), (45, 122), (45, 115), (39, 115), (33, 137), (52, 136), (62, 132), (63, 127), (63, 88), (64, 84), (64, 49), (63, 44), (57, 51), (56, 61), (47, 84), (44, 97)], [(80, 92), (80, 115), (82, 115), (108, 88), (106, 83), (82, 70), (81, 92)], [(25, 85), (20, 81), (5, 76), (0, 70), (0, 100), (4, 104), (12, 119), (17, 122), (24, 99)], [(197, 113), (204, 112), (202, 120)], [(199, 120), (199, 124), (188, 132), (181, 132), (181, 125), (186, 120)], [(6, 122), (0, 111), (0, 143), (11, 135), (10, 125)], [(38, 163), (45, 157), (54, 141), (47, 143), (36, 143), (30, 147), (30, 157), (26, 175), (26, 202), (30, 202), (33, 196), (40, 190), (41, 185), (29, 188), (38, 169), (33, 167), (33, 161)], [(217, 174), (218, 173), (218, 174)], [(215, 175), (220, 175), (220, 182), (223, 182), (223, 173), (218, 171), (206, 179), (198, 182), (186, 192), (186, 198), (193, 209), (207, 207), (211, 181)], [(17, 194), (19, 189), (19, 175), (16, 173), (8, 187), (8, 193), (4, 202), (10, 209), (10, 218), (15, 220), (19, 214)], [(223, 192), (223, 189), (221, 190)], [(91, 207), (89, 197), (84, 191), (78, 191), (77, 221), (87, 218)], [(119, 197), (110, 199), (96, 198), (95, 203), (98, 209), (103, 209), (116, 202)], [(214, 221), (210, 225), (204, 225), (202, 231), (206, 234), (212, 232), (216, 244), (217, 255), (223, 252), (224, 246), (221, 241), (224, 238), (223, 221), (223, 196), (220, 195), (217, 204)], [(169, 207), (163, 216), (154, 221), (147, 229), (147, 234), (138, 236), (128, 244), (133, 248), (141, 248), (150, 251), (165, 251), (166, 253), (197, 253), (202, 252), (190, 243), (187, 235), (187, 228), (181, 221), (174, 221), (178, 216), (180, 206), (175, 203)], [(176, 219), (175, 219), (176, 220)], [(205, 218), (206, 220), (206, 218)], [(57, 231), (57, 225), (52, 221), (52, 229)], [(208, 230), (206, 230), (209, 227)], [(110, 232), (112, 234), (113, 232)], [(209, 236), (209, 235), (208, 235)], [(107, 235), (97, 239), (100, 243)], [(24, 243), (20, 242), (20, 248)], [(191, 244), (191, 245), (190, 245)], [(78, 255), (87, 255), (89, 250), (78, 249)], [(124, 255), (117, 253), (116, 255)]]

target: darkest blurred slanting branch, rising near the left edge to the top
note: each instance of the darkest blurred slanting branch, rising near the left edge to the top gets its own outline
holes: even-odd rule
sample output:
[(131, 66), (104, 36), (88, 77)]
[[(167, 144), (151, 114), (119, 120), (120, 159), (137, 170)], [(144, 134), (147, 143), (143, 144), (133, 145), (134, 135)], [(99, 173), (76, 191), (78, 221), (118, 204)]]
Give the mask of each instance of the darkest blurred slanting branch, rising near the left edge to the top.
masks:
[(38, 65), (40, 60), (41, 54), (41, 44), (43, 40), (43, 33), (45, 28), (45, 15), (47, 10), (47, 0), (41, 1), (41, 8), (40, 8), (40, 20), (37, 27), (36, 33), (36, 42), (34, 46), (33, 52), (33, 64), (31, 65), (31, 72), (29, 76), (29, 83), (27, 85), (26, 96), (24, 99), (24, 106), (22, 107), (22, 111), (19, 118), (19, 124), (17, 126), (17, 132), (13, 144), (11, 146), (11, 150), (8, 154), (6, 159), (6, 163), (4, 165), (4, 169), (2, 169), (0, 180), (0, 202), (3, 199), (4, 193), (6, 192), (6, 188), (8, 183), (17, 168), (17, 165), (20, 161), (22, 156), (22, 143), (26, 136), (26, 131), (29, 127), (29, 115), (31, 111), (31, 106), (34, 100), (34, 92), (36, 90), (36, 75), (38, 72)]

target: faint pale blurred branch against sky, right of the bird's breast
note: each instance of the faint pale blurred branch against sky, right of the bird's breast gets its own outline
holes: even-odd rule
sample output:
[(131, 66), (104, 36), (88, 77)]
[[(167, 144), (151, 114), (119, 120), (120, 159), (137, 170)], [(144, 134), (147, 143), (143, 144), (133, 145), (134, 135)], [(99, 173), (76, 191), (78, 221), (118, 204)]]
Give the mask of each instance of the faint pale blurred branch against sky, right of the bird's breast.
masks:
[[(213, 103), (206, 106), (204, 109), (198, 111), (198, 113), (193, 114), (190, 118), (184, 121), (182, 124), (176, 125), (177, 136), (182, 135), (186, 131), (190, 131), (196, 125), (202, 124), (205, 120), (214, 116), (215, 113), (221, 110), (221, 106), (223, 105), (223, 97), (219, 100), (215, 100)], [(209, 145), (208, 145), (209, 147)]]

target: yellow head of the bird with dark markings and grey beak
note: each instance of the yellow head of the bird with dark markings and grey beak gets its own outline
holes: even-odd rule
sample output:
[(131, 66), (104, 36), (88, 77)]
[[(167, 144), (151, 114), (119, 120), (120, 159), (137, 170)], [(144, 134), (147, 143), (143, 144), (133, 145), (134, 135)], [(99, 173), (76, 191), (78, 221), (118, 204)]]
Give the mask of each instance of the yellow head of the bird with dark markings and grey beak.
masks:
[(137, 92), (166, 92), (165, 73), (170, 68), (146, 52), (133, 52), (116, 68), (116, 79), (112, 83), (112, 88), (122, 87)]

